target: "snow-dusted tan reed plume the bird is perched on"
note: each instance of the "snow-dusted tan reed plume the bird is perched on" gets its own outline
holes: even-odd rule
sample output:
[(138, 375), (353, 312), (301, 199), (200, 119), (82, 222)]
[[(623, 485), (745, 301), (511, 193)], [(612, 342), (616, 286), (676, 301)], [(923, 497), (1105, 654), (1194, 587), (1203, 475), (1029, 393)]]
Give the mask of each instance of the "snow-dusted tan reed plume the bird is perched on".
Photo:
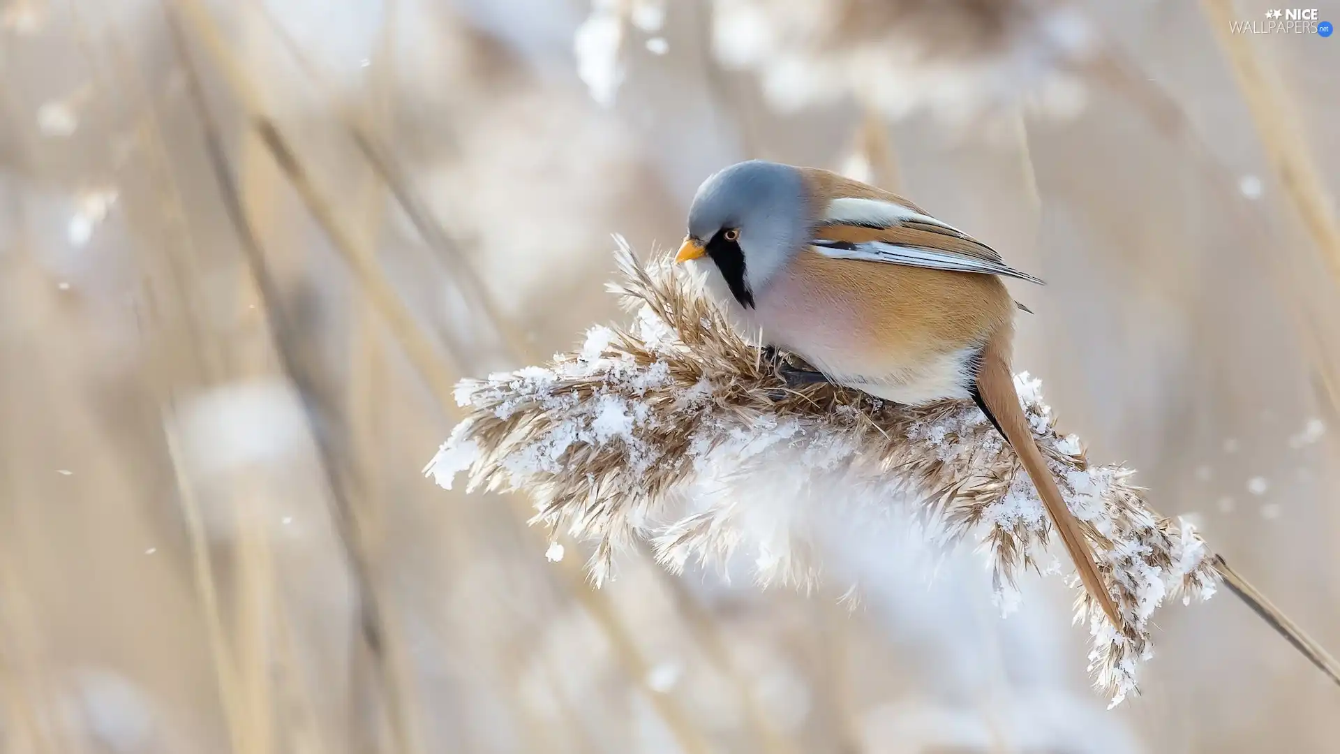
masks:
[[(618, 262), (611, 288), (634, 325), (592, 327), (580, 352), (548, 366), (461, 382), (469, 415), (425, 470), (438, 483), (468, 471), (470, 490), (527, 492), (536, 522), (595, 541), (598, 584), (632, 538), (675, 570), (744, 553), (761, 584), (808, 584), (833, 538), (879, 526), (978, 543), (1006, 609), (1025, 569), (1057, 570), (1043, 503), (976, 407), (787, 389), (697, 280), (665, 262), (639, 266), (622, 241)], [(1091, 669), (1115, 704), (1151, 653), (1154, 609), (1207, 598), (1217, 574), (1201, 537), (1152, 511), (1131, 470), (1092, 466), (1056, 432), (1036, 380), (1020, 374), (1016, 386), (1127, 623), (1114, 629), (1071, 578)]]

